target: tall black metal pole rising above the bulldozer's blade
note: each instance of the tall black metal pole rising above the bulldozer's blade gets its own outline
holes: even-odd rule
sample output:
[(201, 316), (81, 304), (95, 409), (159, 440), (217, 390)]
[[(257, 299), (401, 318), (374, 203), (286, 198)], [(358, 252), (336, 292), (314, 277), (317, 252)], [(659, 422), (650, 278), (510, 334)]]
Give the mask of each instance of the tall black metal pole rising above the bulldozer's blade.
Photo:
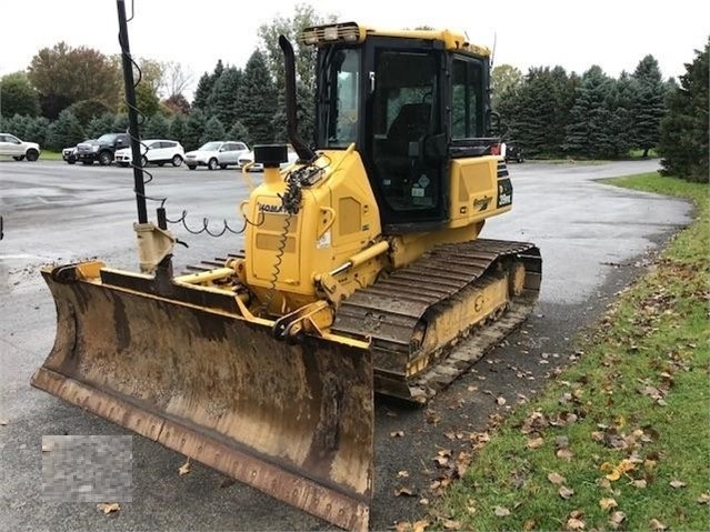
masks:
[(133, 87), (133, 61), (131, 60), (131, 49), (128, 43), (126, 1), (117, 0), (117, 4), (119, 12), (119, 42), (121, 43), (121, 59), (123, 60), (123, 83), (126, 84), (126, 103), (128, 107), (128, 131), (131, 135), (131, 153), (133, 154), (133, 190), (136, 191), (136, 205), (138, 207), (138, 223), (148, 223), (146, 187), (143, 184), (138, 132), (138, 112), (136, 111), (136, 88)]

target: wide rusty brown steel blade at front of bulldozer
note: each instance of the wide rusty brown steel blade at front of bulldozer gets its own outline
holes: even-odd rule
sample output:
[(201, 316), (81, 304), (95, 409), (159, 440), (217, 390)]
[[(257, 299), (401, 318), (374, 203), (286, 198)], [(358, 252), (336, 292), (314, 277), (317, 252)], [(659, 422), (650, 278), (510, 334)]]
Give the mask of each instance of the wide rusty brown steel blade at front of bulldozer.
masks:
[(338, 526), (367, 530), (368, 349), (278, 341), (239, 315), (229, 293), (76, 270), (42, 272), (57, 340), (32, 385)]

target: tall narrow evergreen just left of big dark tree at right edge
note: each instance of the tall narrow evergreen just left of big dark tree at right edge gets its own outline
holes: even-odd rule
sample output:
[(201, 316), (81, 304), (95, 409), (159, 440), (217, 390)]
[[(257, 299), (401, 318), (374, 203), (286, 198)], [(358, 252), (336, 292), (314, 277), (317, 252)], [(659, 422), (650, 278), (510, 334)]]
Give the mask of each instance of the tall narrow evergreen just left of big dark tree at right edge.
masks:
[(638, 82), (633, 109), (634, 140), (636, 145), (643, 150), (643, 157), (648, 157), (649, 150), (658, 144), (660, 124), (666, 113), (666, 84), (653, 56), (646, 56), (639, 62), (633, 79)]

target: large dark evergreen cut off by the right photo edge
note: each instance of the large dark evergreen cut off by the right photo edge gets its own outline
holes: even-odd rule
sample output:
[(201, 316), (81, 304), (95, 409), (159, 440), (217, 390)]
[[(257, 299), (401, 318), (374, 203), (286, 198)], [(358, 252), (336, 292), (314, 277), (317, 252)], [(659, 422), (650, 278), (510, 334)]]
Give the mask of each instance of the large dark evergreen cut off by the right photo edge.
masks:
[(661, 121), (661, 173), (688, 181), (708, 182), (708, 83), (710, 42), (686, 63), (680, 88), (668, 97), (668, 114)]

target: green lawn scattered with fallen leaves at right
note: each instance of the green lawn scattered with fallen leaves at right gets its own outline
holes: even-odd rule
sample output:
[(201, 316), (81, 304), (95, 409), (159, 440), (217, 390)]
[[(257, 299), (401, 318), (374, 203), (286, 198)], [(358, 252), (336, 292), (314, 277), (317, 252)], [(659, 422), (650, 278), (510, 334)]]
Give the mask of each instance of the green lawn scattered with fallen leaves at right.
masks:
[(496, 429), (436, 526), (710, 530), (708, 185), (606, 182), (689, 198), (697, 219), (578, 340), (577, 362)]

